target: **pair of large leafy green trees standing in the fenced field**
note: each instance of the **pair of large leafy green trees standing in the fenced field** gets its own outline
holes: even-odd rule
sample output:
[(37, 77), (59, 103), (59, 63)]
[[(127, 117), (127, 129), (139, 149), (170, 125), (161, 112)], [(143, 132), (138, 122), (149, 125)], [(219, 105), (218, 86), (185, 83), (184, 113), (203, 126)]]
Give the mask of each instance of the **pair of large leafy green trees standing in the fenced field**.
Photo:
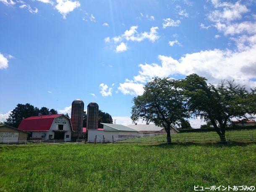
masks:
[(209, 122), (225, 141), (225, 127), (232, 118), (256, 114), (256, 88), (250, 91), (233, 81), (218, 85), (196, 74), (185, 79), (154, 78), (146, 83), (144, 93), (133, 99), (133, 122), (143, 119), (164, 127), (171, 143), (170, 125), (181, 125), (184, 119), (200, 117)]

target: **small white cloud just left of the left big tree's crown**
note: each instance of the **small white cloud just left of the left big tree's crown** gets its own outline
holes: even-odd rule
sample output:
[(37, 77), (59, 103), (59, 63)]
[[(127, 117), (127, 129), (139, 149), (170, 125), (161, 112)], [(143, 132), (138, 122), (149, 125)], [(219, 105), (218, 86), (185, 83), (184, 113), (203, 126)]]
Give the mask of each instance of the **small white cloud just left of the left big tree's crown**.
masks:
[(142, 95), (144, 88), (141, 83), (133, 83), (133, 81), (120, 83), (118, 90), (120, 90), (125, 95)]

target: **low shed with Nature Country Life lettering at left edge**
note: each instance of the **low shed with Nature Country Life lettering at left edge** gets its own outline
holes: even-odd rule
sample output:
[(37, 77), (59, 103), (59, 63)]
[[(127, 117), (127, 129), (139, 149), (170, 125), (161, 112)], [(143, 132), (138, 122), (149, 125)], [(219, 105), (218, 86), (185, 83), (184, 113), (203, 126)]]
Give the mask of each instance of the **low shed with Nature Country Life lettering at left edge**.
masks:
[(0, 125), (0, 143), (1, 142), (19, 142), (26, 141), (28, 133), (18, 130), (9, 125)]

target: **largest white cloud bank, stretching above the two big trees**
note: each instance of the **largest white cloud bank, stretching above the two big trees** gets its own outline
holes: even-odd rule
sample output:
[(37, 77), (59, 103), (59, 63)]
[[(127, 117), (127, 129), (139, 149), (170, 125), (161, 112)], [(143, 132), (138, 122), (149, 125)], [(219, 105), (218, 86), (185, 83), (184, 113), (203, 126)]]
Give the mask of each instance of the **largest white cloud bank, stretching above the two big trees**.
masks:
[[(205, 50), (185, 54), (179, 60), (159, 55), (161, 65), (140, 64), (139, 75), (135, 81), (147, 82), (154, 77), (167, 77), (170, 75), (189, 75), (196, 73), (204, 76), (209, 83), (219, 83), (221, 80), (235, 80), (236, 83), (255, 87), (256, 81), (256, 44), (252, 47), (235, 52), (231, 50)], [(227, 73), (228, 72), (228, 73)]]

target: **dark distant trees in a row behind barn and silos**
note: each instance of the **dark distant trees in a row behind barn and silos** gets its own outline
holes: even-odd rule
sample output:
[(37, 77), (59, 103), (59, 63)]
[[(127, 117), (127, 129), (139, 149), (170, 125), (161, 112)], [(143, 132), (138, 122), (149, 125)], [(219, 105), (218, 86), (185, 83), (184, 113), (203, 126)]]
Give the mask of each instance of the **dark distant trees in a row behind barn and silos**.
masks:
[[(22, 119), (31, 117), (31, 116), (37, 116), (39, 113), (42, 115), (47, 115), (49, 113), (57, 114), (57, 111), (55, 109), (48, 109), (47, 107), (42, 107), (41, 109), (34, 107), (31, 104), (17, 104), (16, 108), (13, 109), (13, 111), (10, 113), (8, 119), (6, 119), (6, 122), (1, 123), (5, 125), (10, 125), (12, 127), (18, 128), (20, 125)], [(69, 117), (68, 114), (65, 114), (67, 117)], [(83, 126), (86, 127), (86, 119), (87, 115), (86, 112), (84, 112), (83, 117)], [(102, 110), (99, 110), (99, 128), (102, 128), (103, 125), (100, 123), (113, 123), (113, 119), (110, 114), (106, 112), (102, 112)]]

